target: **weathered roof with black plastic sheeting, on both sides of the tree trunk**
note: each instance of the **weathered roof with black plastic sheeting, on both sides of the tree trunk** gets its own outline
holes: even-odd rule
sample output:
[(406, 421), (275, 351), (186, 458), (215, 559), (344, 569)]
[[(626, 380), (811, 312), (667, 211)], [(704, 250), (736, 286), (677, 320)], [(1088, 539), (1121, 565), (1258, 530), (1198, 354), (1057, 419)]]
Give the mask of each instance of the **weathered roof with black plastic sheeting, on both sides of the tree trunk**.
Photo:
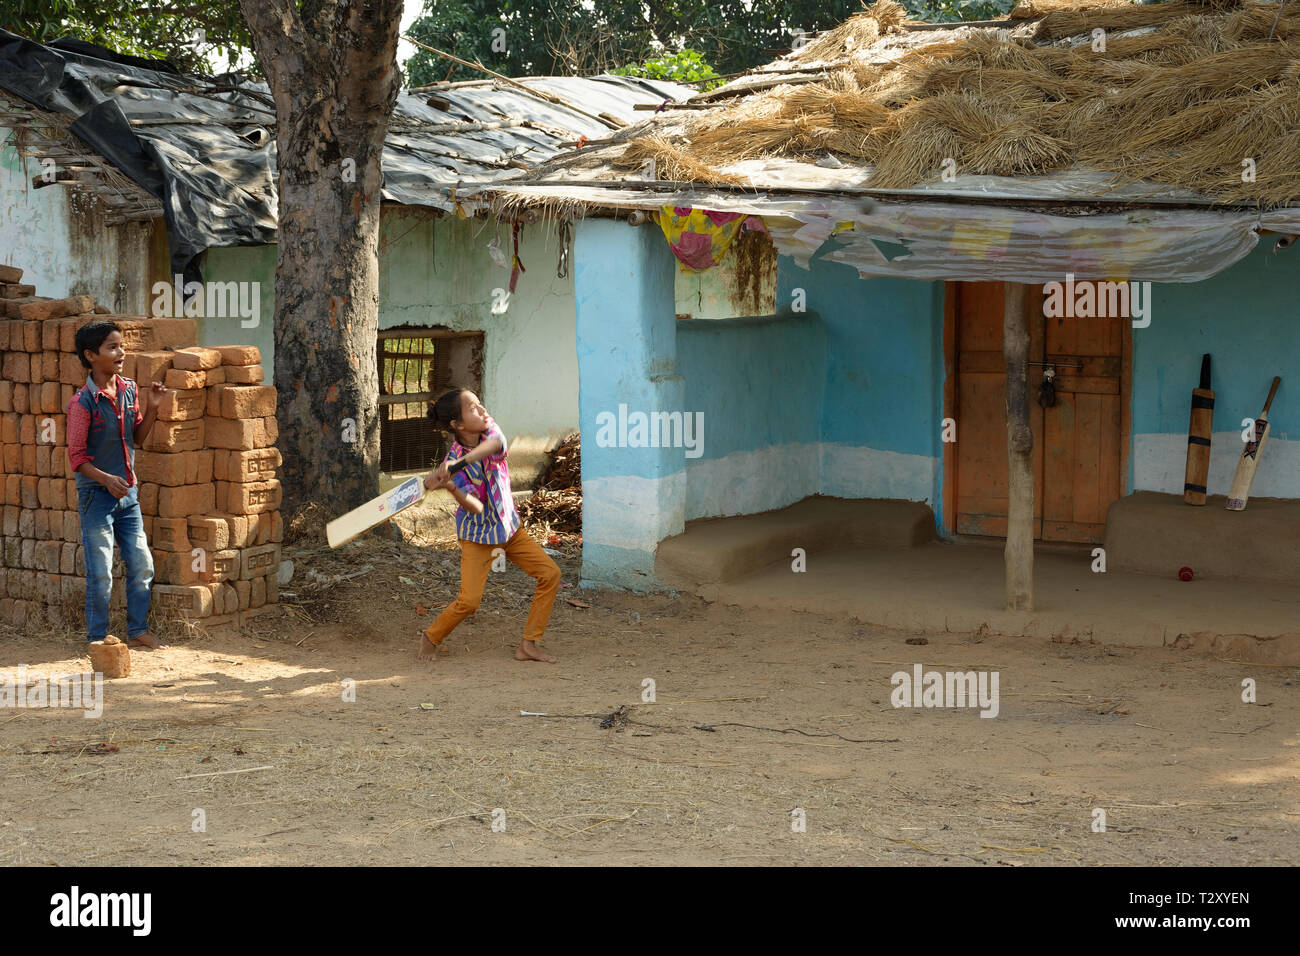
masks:
[[(108, 159), (139, 190), (124, 217), (156, 215), (161, 204), (173, 268), (211, 246), (274, 242), (276, 113), (266, 85), (139, 64), (87, 44), (43, 46), (0, 30), (0, 91), (8, 103), (0, 125), (53, 129), (65, 153), (88, 147)], [(384, 199), (455, 208), (452, 187), (515, 178), (581, 137), (601, 139), (634, 122), (638, 103), (677, 101), (693, 92), (614, 75), (403, 92), (384, 150)], [(47, 138), (31, 155), (51, 155), (48, 150)], [(94, 170), (81, 177), (95, 189)], [(113, 183), (113, 191), (121, 194), (122, 183)]]

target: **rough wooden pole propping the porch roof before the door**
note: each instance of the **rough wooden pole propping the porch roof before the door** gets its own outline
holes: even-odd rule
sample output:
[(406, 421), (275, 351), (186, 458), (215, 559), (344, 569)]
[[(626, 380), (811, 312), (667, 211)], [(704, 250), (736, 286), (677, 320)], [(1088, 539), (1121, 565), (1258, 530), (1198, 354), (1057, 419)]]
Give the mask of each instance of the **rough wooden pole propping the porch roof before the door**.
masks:
[(1034, 610), (1034, 432), (1030, 429), (1030, 326), (1024, 286), (1006, 282), (1006, 609)]

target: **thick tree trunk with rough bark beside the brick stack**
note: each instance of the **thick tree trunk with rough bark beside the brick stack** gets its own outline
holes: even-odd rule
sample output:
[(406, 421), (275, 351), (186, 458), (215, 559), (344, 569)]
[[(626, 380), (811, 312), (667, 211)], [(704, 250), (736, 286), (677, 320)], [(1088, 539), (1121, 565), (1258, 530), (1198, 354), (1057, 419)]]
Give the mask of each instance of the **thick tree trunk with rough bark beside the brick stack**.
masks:
[(402, 0), (239, 0), (276, 100), (283, 509), (378, 488), (380, 189)]

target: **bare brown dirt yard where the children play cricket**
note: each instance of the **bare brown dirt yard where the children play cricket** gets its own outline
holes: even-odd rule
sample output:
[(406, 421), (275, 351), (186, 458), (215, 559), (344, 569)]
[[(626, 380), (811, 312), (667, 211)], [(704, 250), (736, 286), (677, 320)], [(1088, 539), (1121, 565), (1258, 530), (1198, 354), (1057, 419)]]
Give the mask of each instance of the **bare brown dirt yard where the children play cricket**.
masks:
[[(103, 718), (0, 710), (0, 864), (1300, 862), (1300, 669), (909, 644), (580, 591), (577, 554), (558, 558), (558, 665), (511, 657), (532, 593), (514, 566), (421, 665), (413, 635), (459, 579), (451, 540), (286, 549), (283, 605), (134, 653)], [(83, 649), (0, 631), (0, 670), (79, 671)], [(1000, 713), (893, 708), (890, 675), (914, 663), (996, 670)]]

